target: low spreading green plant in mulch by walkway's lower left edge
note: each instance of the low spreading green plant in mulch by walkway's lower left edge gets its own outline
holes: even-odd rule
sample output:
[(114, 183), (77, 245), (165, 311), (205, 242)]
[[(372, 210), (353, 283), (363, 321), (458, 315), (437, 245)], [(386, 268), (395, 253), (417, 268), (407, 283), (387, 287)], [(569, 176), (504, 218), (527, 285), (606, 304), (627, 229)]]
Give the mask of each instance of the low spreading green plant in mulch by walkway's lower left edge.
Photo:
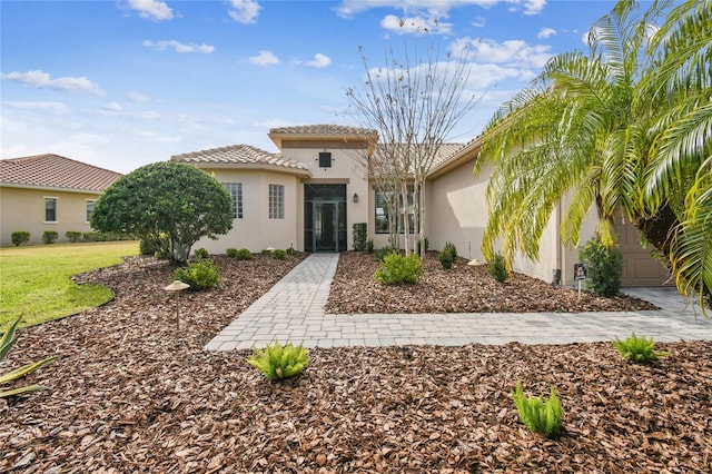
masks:
[(301, 344), (291, 343), (283, 346), (277, 340), (267, 344), (264, 350), (253, 349), (247, 363), (257, 368), (268, 381), (280, 381), (295, 377), (309, 364), (309, 355)]

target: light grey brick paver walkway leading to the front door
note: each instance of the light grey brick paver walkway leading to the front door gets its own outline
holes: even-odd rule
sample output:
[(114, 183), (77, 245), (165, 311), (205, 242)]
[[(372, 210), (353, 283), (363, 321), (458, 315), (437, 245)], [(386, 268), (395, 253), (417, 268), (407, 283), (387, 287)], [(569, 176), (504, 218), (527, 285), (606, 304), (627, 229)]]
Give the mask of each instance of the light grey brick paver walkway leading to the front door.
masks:
[(306, 347), (469, 343), (566, 344), (612, 340), (635, 332), (657, 342), (712, 339), (712, 318), (674, 288), (625, 292), (662, 307), (629, 313), (357, 314), (324, 312), (338, 254), (313, 254), (206, 345), (264, 347), (275, 339)]

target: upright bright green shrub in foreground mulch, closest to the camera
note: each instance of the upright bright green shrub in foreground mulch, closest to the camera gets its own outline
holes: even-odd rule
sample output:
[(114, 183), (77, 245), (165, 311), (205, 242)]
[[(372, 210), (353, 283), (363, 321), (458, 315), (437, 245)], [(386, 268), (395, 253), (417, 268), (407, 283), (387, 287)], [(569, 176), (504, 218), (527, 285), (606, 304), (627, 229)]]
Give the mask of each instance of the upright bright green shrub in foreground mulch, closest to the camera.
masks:
[(512, 398), (520, 419), (531, 432), (542, 433), (547, 438), (558, 436), (563, 411), (553, 385), (548, 399), (543, 402), (537, 396), (526, 397), (522, 391), (522, 382), (517, 382), (516, 389), (512, 392)]

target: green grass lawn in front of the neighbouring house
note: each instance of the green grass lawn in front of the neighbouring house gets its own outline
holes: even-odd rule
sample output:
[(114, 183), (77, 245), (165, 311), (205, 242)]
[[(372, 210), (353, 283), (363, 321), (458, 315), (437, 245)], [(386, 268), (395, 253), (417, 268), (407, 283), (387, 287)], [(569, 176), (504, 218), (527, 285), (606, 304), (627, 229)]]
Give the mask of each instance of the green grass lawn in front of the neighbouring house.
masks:
[(19, 315), (22, 326), (32, 326), (107, 303), (109, 288), (77, 285), (71, 276), (131, 255), (138, 255), (138, 241), (0, 248), (0, 330)]

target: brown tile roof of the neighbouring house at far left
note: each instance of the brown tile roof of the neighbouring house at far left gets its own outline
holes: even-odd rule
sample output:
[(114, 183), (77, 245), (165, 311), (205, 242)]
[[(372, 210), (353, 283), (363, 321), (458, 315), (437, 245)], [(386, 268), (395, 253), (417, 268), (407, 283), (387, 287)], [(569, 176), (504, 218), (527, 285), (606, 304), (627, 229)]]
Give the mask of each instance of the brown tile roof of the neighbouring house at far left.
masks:
[(0, 184), (103, 191), (121, 174), (46, 154), (0, 160)]

